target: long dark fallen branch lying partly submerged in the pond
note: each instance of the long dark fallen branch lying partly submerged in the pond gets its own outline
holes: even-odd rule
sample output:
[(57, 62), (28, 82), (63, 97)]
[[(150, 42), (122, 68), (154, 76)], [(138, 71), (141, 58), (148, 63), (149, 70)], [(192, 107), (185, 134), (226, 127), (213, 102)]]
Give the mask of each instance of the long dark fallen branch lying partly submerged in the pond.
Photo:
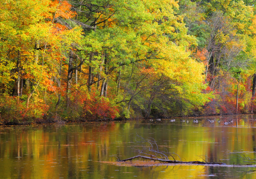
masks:
[(159, 161), (159, 162), (166, 162), (166, 163), (226, 165), (225, 163), (222, 163), (222, 162), (201, 162), (201, 161), (183, 162), (183, 161), (178, 161), (178, 160), (158, 159), (158, 158), (154, 158), (153, 156), (149, 157), (149, 156), (143, 156), (143, 155), (137, 155), (137, 156), (133, 156), (133, 157), (128, 158), (128, 159), (119, 160), (119, 162), (125, 162), (125, 161), (136, 159), (136, 158), (149, 159), (149, 160), (154, 160), (154, 161)]

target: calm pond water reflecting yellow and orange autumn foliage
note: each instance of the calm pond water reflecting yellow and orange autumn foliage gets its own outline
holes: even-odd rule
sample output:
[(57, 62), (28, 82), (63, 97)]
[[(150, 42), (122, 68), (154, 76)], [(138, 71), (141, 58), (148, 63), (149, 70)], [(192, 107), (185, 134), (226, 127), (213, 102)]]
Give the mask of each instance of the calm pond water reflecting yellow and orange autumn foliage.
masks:
[[(255, 167), (232, 167), (249, 164), (241, 157), (256, 159), (256, 116), (187, 120), (0, 127), (0, 179), (256, 179)], [(137, 155), (137, 135), (154, 138), (160, 150), (183, 161), (221, 161), (231, 167), (104, 163)]]

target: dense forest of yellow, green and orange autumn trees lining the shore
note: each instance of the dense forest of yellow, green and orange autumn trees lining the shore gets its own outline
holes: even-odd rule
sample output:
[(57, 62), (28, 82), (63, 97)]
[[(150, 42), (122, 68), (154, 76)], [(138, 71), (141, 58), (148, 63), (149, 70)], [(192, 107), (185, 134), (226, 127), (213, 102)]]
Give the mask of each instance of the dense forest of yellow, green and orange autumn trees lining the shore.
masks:
[(0, 123), (256, 113), (254, 0), (0, 6)]

